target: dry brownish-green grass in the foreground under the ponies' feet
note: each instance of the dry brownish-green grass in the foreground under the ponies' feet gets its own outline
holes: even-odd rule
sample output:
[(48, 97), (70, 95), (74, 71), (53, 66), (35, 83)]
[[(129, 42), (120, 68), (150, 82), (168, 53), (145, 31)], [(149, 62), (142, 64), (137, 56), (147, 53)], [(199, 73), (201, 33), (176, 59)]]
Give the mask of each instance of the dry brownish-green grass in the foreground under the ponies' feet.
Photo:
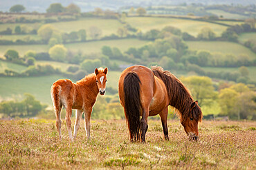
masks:
[[(59, 140), (55, 120), (0, 120), (0, 169), (256, 169), (255, 122), (203, 121), (190, 142), (179, 120), (149, 120), (146, 143), (131, 143), (125, 120), (84, 121), (75, 142)], [(74, 118), (72, 129), (74, 125)]]

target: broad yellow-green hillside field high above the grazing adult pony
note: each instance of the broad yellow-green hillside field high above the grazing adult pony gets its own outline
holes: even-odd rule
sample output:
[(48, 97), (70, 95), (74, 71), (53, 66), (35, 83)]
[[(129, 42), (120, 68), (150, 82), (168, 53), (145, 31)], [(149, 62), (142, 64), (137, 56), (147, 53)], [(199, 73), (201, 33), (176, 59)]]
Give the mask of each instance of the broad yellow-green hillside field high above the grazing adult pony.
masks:
[(182, 32), (188, 32), (193, 36), (197, 36), (202, 28), (211, 28), (217, 36), (226, 30), (226, 26), (203, 21), (192, 21), (186, 19), (157, 18), (157, 17), (127, 17), (127, 23), (134, 28), (140, 28), (143, 32), (157, 29), (161, 30), (167, 25), (181, 29)]

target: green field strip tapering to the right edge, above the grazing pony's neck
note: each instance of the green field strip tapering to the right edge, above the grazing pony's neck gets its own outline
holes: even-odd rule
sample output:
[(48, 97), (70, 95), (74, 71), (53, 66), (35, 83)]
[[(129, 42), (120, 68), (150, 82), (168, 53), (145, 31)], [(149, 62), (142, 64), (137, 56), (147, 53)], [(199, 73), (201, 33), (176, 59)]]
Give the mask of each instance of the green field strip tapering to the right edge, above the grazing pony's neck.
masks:
[(256, 54), (247, 47), (238, 43), (223, 41), (186, 41), (191, 50), (208, 50), (210, 52), (221, 52), (223, 54), (246, 54), (250, 59), (255, 59)]

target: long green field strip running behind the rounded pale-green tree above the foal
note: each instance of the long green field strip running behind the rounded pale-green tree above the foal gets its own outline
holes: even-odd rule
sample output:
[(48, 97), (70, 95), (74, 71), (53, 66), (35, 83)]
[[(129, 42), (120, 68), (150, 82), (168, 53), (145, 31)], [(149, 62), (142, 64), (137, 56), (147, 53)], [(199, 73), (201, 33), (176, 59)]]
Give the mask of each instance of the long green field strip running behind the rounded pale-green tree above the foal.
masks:
[[(110, 47), (118, 47), (120, 50), (128, 50), (129, 47), (141, 47), (149, 41), (141, 41), (138, 39), (118, 39), (118, 40), (105, 40), (105, 41), (91, 41), (84, 43), (68, 43), (64, 46), (72, 52), (83, 52), (84, 54), (100, 53), (101, 47), (108, 45)], [(0, 55), (3, 55), (7, 50), (14, 49), (23, 56), (28, 50), (35, 52), (47, 52), (48, 45), (0, 45)]]

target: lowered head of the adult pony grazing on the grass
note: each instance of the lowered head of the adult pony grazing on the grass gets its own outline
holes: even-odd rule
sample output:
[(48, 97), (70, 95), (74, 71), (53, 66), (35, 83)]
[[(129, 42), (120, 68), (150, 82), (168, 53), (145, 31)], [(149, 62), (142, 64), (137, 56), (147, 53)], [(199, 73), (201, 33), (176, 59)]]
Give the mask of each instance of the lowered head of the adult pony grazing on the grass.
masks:
[(202, 118), (203, 114), (197, 100), (191, 103), (190, 108), (188, 109), (188, 114), (181, 116), (181, 124), (190, 140), (198, 139), (198, 122), (201, 122)]

